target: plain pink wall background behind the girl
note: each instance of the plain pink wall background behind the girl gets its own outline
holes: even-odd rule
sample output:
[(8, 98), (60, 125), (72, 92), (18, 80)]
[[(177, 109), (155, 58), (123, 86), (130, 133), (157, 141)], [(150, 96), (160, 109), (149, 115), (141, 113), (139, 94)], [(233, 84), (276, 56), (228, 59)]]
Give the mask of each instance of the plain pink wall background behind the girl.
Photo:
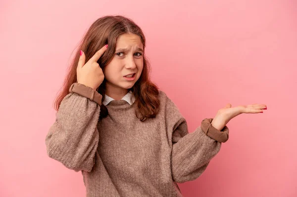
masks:
[(53, 99), (72, 51), (103, 15), (143, 29), (152, 80), (190, 132), (232, 106), (266, 104), (230, 138), (185, 197), (297, 196), (297, 3), (294, 0), (1, 0), (1, 197), (83, 197), (80, 172), (46, 154)]

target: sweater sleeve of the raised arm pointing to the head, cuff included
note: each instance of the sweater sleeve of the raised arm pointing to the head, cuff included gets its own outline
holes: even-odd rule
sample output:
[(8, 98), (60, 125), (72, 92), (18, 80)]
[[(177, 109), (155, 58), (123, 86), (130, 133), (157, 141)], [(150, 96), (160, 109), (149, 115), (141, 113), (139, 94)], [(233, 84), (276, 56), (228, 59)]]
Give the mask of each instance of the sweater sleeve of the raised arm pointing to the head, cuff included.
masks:
[(99, 143), (97, 123), (102, 96), (93, 88), (73, 83), (46, 136), (47, 154), (69, 169), (90, 172)]

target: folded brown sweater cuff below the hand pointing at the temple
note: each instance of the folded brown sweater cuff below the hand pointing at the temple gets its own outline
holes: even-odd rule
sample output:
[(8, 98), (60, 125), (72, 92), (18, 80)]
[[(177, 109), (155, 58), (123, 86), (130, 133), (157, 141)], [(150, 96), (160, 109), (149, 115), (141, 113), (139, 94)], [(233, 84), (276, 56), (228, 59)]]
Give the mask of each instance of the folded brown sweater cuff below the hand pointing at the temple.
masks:
[(92, 87), (86, 86), (84, 84), (72, 83), (72, 85), (69, 88), (69, 92), (74, 92), (76, 94), (90, 99), (91, 101), (95, 101), (99, 104), (99, 106), (102, 103), (102, 95), (99, 94), (99, 92), (95, 91)]

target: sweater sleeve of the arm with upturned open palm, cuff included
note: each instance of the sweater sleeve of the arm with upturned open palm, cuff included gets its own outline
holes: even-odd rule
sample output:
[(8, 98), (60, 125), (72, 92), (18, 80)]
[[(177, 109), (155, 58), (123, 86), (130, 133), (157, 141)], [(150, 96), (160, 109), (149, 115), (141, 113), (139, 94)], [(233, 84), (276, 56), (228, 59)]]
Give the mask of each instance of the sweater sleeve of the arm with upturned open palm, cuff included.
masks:
[[(186, 119), (168, 97), (166, 111), (166, 118), (169, 118), (167, 124), (172, 130), (171, 172), (173, 181), (184, 183), (195, 180), (220, 151), (221, 143), (227, 141), (229, 129), (225, 126), (221, 132), (211, 126), (212, 118), (205, 118), (201, 126), (189, 133)], [(223, 140), (222, 134), (225, 137)]]

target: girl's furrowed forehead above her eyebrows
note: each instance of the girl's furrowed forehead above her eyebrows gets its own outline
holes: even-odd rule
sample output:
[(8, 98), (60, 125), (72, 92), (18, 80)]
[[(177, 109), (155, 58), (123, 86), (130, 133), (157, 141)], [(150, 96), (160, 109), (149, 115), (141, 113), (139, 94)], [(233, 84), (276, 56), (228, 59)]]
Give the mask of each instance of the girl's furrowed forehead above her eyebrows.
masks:
[(140, 37), (136, 34), (123, 34), (119, 36), (116, 41), (116, 47), (130, 47), (130, 46), (137, 46), (143, 48), (142, 41)]

